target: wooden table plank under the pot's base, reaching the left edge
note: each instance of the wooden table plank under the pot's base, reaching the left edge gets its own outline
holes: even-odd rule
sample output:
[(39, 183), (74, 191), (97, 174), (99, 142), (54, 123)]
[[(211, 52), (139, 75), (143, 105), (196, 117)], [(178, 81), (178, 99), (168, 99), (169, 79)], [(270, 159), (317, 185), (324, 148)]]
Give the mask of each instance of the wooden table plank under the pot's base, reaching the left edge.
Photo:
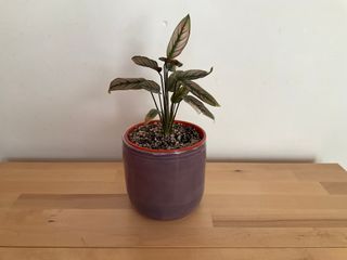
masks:
[(143, 217), (133, 209), (8, 209), (1, 210), (0, 229), (37, 226), (47, 229), (100, 230), (154, 226), (213, 227), (210, 214), (197, 208), (190, 216), (175, 221), (156, 221)]

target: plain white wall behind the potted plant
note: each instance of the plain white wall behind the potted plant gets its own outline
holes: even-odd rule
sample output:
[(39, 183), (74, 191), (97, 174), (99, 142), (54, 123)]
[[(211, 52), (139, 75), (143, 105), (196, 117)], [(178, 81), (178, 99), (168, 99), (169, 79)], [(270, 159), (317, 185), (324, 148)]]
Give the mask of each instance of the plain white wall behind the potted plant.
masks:
[(208, 156), (314, 159), (347, 166), (347, 1), (0, 0), (0, 158), (120, 158), (120, 136), (152, 107), (144, 91), (108, 95), (119, 76), (156, 75), (192, 17), (180, 60), (214, 74), (222, 105), (203, 126)]

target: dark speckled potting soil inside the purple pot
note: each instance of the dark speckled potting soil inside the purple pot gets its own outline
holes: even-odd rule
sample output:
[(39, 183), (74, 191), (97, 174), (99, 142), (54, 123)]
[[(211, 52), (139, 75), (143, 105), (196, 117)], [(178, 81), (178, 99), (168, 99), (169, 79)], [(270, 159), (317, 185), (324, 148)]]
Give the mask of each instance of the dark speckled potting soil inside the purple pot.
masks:
[(136, 128), (129, 134), (132, 143), (152, 150), (177, 150), (191, 146), (202, 140), (198, 132), (190, 126), (175, 122), (172, 133), (165, 136), (160, 122), (151, 122)]

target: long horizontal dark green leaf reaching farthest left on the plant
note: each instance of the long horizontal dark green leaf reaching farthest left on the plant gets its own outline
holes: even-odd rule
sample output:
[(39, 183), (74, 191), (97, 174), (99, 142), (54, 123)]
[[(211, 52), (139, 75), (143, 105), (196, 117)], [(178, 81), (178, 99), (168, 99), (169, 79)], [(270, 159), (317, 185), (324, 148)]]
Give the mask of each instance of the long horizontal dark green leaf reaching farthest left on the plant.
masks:
[(153, 80), (144, 78), (116, 78), (110, 83), (108, 93), (115, 90), (140, 90), (144, 89), (153, 93), (159, 93), (160, 87)]

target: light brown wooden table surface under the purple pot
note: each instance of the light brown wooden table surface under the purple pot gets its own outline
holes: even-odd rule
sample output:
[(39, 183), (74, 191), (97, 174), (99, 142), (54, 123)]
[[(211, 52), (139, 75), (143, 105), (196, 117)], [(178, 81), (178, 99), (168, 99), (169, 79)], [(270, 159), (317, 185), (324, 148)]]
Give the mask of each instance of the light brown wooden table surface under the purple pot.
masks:
[(335, 164), (209, 162), (176, 221), (131, 208), (121, 162), (0, 164), (0, 259), (347, 259)]

